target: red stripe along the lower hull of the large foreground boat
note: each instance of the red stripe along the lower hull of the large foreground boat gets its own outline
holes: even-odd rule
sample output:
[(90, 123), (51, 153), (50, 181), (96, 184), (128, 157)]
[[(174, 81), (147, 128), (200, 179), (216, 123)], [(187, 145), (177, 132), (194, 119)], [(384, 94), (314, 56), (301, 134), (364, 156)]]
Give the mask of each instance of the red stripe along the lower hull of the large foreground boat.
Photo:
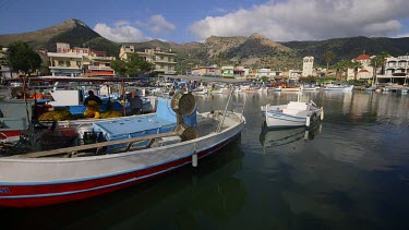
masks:
[[(218, 145), (197, 153), (197, 157), (205, 157), (234, 140), (236, 136), (219, 143)], [(178, 167), (191, 162), (192, 158), (184, 157), (179, 160), (167, 162), (164, 165), (146, 168), (133, 172), (128, 172), (119, 175), (101, 178), (96, 180), (59, 183), (59, 184), (39, 184), (39, 185), (10, 185), (7, 186), (8, 193), (0, 193), (0, 206), (2, 207), (36, 207), (46, 206), (59, 203), (67, 203), (71, 201), (89, 198), (93, 196), (101, 195), (108, 192), (120, 190), (125, 186), (135, 185), (144, 181), (151, 180), (159, 174), (169, 172)], [(119, 183), (119, 184), (116, 184)], [(56, 193), (69, 193), (58, 194)], [(45, 195), (38, 197), (15, 197), (7, 198), (7, 196), (31, 196), (31, 195)], [(49, 195), (49, 196), (47, 196)]]

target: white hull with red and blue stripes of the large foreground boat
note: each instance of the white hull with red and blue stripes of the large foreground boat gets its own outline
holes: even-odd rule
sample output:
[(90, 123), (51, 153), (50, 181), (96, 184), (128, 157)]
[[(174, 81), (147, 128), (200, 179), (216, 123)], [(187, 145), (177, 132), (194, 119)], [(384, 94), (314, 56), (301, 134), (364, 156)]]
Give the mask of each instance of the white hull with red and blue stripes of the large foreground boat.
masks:
[[(215, 116), (202, 113), (204, 125)], [(196, 159), (215, 153), (238, 136), (244, 123), (240, 113), (230, 112), (221, 132), (160, 147), (74, 158), (0, 158), (0, 207), (83, 199), (142, 183), (184, 165), (194, 166)]]

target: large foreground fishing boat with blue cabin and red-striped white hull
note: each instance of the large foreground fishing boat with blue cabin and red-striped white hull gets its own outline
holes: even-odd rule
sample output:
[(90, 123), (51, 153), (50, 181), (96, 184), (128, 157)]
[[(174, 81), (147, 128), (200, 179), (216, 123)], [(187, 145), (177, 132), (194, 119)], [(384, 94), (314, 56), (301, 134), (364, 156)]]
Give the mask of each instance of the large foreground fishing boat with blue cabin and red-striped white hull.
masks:
[[(229, 101), (230, 98), (231, 94)], [(15, 149), (22, 146), (2, 146), (0, 207), (36, 207), (91, 198), (182, 166), (196, 167), (200, 159), (238, 137), (245, 123), (242, 113), (228, 111), (227, 106), (224, 111), (202, 113), (196, 108), (192, 94), (176, 94), (158, 101), (154, 114), (95, 122), (89, 132), (82, 134), (71, 126), (56, 129), (59, 125), (40, 126), (41, 135), (25, 132), (23, 141), (34, 138), (40, 143), (34, 147), (39, 150), (17, 153)], [(52, 135), (56, 133), (59, 134)]]

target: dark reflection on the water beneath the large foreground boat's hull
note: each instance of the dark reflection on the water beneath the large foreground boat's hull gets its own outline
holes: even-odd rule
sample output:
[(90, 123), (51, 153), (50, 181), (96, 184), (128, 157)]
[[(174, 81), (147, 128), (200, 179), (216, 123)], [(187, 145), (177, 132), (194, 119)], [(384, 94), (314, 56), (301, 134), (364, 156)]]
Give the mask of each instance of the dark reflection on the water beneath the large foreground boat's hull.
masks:
[[(197, 168), (187, 166), (158, 180), (96, 198), (9, 210), (2, 217), (16, 229), (36, 226), (41, 229), (197, 229), (203, 218), (215, 222), (228, 220), (244, 205), (245, 187), (233, 177), (242, 170), (243, 156), (239, 138), (204, 158)], [(52, 221), (43, 222), (44, 217), (51, 216)]]

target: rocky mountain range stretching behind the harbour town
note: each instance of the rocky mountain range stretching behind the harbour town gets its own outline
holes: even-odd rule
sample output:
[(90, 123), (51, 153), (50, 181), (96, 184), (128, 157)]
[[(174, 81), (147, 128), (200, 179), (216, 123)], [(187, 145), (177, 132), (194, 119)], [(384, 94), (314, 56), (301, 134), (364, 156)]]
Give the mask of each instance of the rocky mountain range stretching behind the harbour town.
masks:
[[(56, 50), (56, 43), (69, 43), (72, 47), (89, 47), (106, 50), (118, 56), (121, 44), (110, 41), (94, 32), (79, 20), (68, 20), (52, 27), (14, 35), (0, 35), (0, 46), (23, 40), (34, 48)], [(377, 55), (386, 51), (392, 56), (409, 52), (409, 38), (387, 37), (350, 37), (318, 41), (277, 43), (261, 34), (249, 37), (210, 36), (204, 43), (176, 44), (172, 41), (151, 40), (147, 43), (127, 43), (134, 45), (136, 50), (160, 47), (177, 53), (178, 64), (183, 66), (208, 64), (238, 64), (252, 68), (300, 69), (302, 58), (313, 56), (315, 65), (325, 66), (324, 53), (333, 51), (335, 63), (341, 59), (352, 59), (365, 52)]]

